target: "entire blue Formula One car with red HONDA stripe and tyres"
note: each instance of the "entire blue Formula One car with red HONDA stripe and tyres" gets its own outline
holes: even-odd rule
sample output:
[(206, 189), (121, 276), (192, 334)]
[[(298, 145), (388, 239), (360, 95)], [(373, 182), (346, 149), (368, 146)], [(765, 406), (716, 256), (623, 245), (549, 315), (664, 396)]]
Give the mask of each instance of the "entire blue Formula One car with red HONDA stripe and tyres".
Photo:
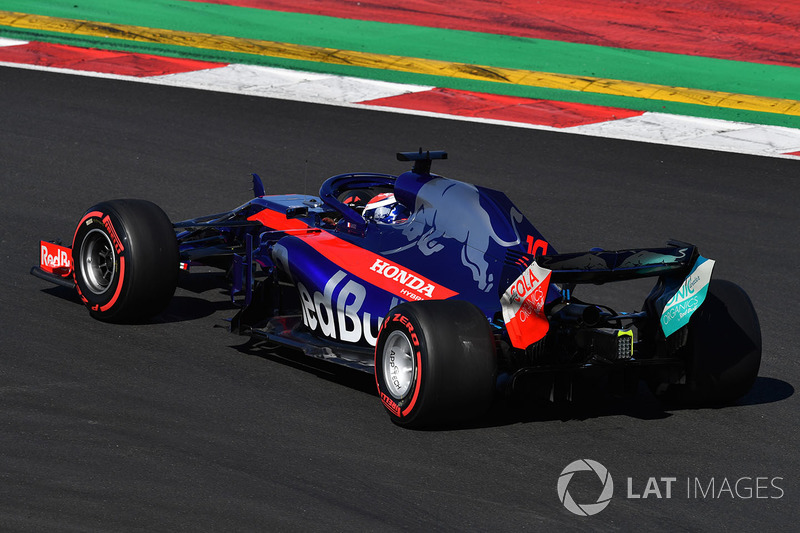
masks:
[[(254, 174), (254, 199), (176, 223), (147, 201), (102, 202), (71, 247), (41, 242), (32, 273), (130, 322), (165, 308), (179, 269), (218, 267), (241, 308), (233, 331), (374, 372), (400, 425), (475, 417), (528, 377), (550, 398), (586, 372), (683, 404), (751, 388), (755, 310), (695, 246), (558, 254), (503, 193), (431, 174), (446, 157), (399, 153), (411, 171), (333, 176), (318, 196), (266, 195)], [(574, 296), (643, 277), (655, 285), (638, 311)]]

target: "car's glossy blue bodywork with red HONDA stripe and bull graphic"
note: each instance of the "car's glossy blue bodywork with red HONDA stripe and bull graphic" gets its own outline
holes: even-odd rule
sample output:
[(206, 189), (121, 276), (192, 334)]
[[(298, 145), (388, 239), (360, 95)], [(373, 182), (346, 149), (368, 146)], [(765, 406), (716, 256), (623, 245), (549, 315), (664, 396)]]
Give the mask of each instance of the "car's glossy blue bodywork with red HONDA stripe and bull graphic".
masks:
[[(253, 188), (265, 192), (255, 175)], [(365, 189), (391, 191), (408, 218), (393, 224), (367, 220), (340, 199)], [(441, 298), (441, 289), (444, 297), (477, 305), (502, 333), (503, 292), (534, 260), (563, 284), (549, 286), (551, 304), (570, 295), (575, 283), (656, 275), (668, 281), (676, 271), (688, 272), (695, 259), (694, 247), (559, 255), (502, 192), (413, 170), (399, 176), (341, 174), (326, 180), (319, 196), (260, 195), (214, 220), (176, 227), (198, 224), (215, 228), (224, 249), (246, 243), (250, 235), (249, 248), (240, 244), (234, 250), (233, 292), (246, 294), (245, 306), (253, 291), (246, 265), (277, 270), (297, 292), (304, 326), (320, 339), (354, 348), (375, 345), (381, 319), (392, 307)], [(187, 259), (219, 252), (205, 239), (191, 244), (192, 231), (197, 230), (179, 235)], [(677, 285), (667, 285), (671, 297)]]

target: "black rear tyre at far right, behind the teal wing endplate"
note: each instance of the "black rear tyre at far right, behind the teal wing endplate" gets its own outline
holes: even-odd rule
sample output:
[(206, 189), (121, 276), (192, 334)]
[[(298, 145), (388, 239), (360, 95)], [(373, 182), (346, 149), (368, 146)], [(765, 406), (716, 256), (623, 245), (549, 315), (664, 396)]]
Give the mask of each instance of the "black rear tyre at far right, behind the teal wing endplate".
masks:
[(660, 394), (679, 406), (731, 404), (744, 396), (761, 365), (761, 327), (747, 293), (735, 283), (711, 280), (687, 326), (685, 383)]

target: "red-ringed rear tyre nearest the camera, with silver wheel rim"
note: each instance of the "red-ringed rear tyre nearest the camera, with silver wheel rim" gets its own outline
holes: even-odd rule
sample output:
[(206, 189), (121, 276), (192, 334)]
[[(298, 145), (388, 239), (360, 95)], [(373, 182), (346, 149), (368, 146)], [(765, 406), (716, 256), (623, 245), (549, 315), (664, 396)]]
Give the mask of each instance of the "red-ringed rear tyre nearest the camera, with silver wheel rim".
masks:
[(401, 426), (444, 425), (483, 414), (494, 395), (496, 368), (489, 323), (469, 302), (400, 304), (378, 335), (378, 393)]

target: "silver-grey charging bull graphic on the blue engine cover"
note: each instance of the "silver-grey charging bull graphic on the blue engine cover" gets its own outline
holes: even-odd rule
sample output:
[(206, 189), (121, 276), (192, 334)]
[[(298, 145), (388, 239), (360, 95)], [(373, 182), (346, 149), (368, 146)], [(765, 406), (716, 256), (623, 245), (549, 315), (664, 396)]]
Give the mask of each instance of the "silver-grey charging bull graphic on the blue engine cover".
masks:
[[(409, 206), (411, 207), (411, 206)], [(416, 246), (426, 256), (444, 248), (443, 239), (461, 243), (461, 262), (472, 272), (478, 288), (488, 292), (494, 285), (494, 276), (488, 273), (486, 253), (490, 242), (509, 247), (520, 243), (516, 226), (514, 240), (502, 239), (494, 227), (489, 213), (480, 202), (480, 193), (474, 185), (434, 178), (423, 184), (416, 195), (414, 212), (403, 229), (409, 240), (407, 246), (384, 252), (392, 254)], [(519, 223), (523, 216), (511, 208), (511, 220)]]

